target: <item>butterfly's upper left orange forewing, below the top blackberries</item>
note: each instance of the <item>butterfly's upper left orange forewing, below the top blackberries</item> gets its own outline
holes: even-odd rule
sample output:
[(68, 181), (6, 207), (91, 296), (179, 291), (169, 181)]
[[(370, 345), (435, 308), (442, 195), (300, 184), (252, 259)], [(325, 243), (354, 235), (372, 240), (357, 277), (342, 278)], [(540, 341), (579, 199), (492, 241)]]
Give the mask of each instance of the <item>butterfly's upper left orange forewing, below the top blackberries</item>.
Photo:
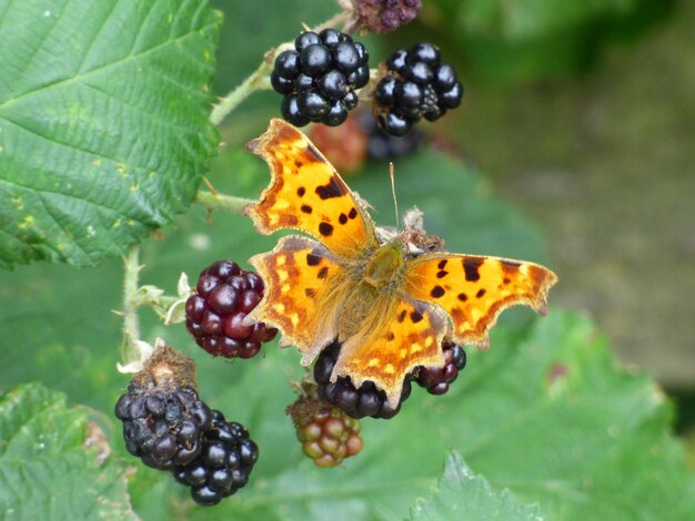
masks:
[(299, 130), (274, 119), (246, 146), (268, 162), (272, 176), (260, 201), (245, 208), (259, 232), (300, 229), (345, 258), (377, 247), (374, 224), (360, 202)]

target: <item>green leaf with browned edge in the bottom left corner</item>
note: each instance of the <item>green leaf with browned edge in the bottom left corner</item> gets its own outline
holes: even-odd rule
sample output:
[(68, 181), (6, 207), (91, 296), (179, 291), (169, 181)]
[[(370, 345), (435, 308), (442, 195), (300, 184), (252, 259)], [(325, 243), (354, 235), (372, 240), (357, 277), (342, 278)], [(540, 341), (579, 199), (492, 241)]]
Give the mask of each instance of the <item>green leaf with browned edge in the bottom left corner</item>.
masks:
[(0, 396), (2, 519), (135, 520), (124, 469), (109, 450), (63, 395), (28, 385)]

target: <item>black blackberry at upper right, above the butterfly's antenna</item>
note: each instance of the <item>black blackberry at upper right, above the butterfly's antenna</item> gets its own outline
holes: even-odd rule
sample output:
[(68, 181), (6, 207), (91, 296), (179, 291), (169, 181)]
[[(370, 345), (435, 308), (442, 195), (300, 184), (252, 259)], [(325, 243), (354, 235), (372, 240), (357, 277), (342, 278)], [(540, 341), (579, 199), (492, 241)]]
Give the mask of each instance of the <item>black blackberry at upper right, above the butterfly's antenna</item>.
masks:
[(462, 96), (456, 71), (442, 62), (439, 48), (417, 43), (386, 60), (386, 75), (374, 91), (374, 118), (385, 133), (402, 136), (421, 118), (439, 120), (459, 106)]

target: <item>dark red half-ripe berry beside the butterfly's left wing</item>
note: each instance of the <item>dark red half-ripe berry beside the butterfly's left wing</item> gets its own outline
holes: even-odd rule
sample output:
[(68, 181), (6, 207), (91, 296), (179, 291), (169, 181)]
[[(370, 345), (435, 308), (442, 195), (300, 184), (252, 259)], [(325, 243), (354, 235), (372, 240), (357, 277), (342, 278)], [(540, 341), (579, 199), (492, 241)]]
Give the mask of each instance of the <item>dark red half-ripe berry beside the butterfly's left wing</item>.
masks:
[(278, 329), (264, 323), (243, 324), (263, 298), (263, 280), (231, 260), (203, 269), (197, 293), (185, 303), (185, 327), (195, 343), (213, 356), (251, 358)]

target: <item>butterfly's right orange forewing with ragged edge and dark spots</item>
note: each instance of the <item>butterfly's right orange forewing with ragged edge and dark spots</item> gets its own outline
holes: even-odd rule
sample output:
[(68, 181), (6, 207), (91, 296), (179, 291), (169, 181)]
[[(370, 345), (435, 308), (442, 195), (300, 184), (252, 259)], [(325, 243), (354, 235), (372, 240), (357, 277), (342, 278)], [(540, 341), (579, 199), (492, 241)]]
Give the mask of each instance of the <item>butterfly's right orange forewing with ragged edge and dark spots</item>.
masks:
[(538, 264), (432, 253), (409, 260), (405, 290), (449, 314), (455, 343), (487, 347), (487, 331), (504, 308), (523, 304), (544, 315), (547, 292), (556, 282)]

